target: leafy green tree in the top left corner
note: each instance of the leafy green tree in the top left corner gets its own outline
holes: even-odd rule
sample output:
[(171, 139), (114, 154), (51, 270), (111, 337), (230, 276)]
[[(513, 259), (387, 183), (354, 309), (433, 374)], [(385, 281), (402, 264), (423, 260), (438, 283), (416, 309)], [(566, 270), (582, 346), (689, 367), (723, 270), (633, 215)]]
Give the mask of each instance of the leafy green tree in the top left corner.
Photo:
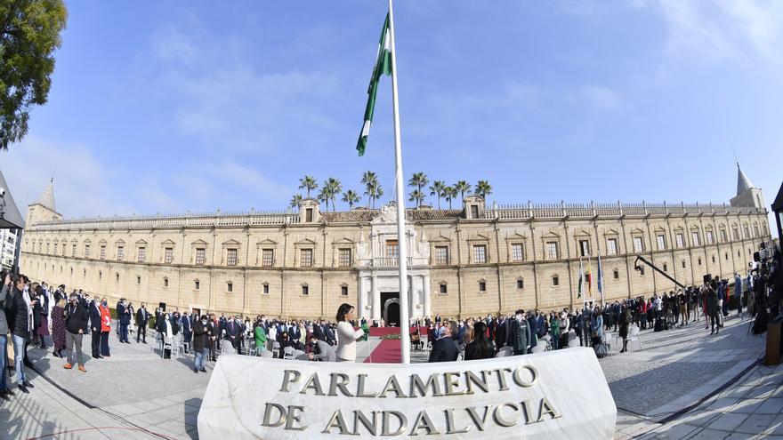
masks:
[(46, 103), (68, 11), (62, 0), (5, 0), (0, 18), (0, 149), (7, 150), (28, 133), (30, 108)]

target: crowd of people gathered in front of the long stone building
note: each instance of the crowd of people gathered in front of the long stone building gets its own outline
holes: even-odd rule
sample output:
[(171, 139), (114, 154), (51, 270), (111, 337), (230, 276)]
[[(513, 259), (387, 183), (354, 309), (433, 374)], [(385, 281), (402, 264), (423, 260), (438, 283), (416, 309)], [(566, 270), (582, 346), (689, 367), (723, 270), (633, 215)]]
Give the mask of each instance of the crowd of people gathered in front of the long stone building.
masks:
[[(66, 293), (65, 285), (54, 288), (31, 282), (27, 276), (0, 273), (0, 398), (14, 396), (10, 383), (13, 371), (17, 388), (29, 393), (33, 384), (26, 368), (32, 364), (28, 348), (46, 349), (51, 336), (52, 356), (65, 359), (63, 367), (86, 372), (82, 343), (91, 335), (93, 359), (111, 356), (109, 335), (113, 324), (105, 297), (93, 298), (81, 290)], [(735, 274), (733, 287), (718, 277), (705, 280), (700, 287), (690, 286), (677, 292), (657, 293), (650, 298), (636, 297), (598, 305), (585, 301), (583, 308), (562, 308), (545, 313), (539, 309), (518, 309), (511, 316), (485, 316), (449, 320), (439, 316), (414, 320), (412, 348), (424, 350), (424, 334), (430, 348), (429, 362), (484, 359), (496, 356), (520, 356), (531, 352), (569, 347), (592, 347), (601, 357), (608, 353), (607, 332), (618, 332), (623, 340), (620, 353), (626, 352), (634, 330), (666, 331), (698, 323), (703, 317), (710, 334), (720, 332), (729, 315), (730, 302), (741, 316), (743, 310), (755, 316), (756, 325), (766, 327), (770, 316), (778, 315), (783, 298), (783, 276), (777, 260), (771, 260), (746, 277)], [(356, 342), (367, 340), (369, 328), (383, 322), (357, 319), (354, 308), (343, 304), (335, 320), (297, 320), (267, 316), (220, 316), (180, 313), (157, 308), (149, 313), (141, 303), (120, 299), (115, 307), (119, 343), (130, 344), (133, 333), (137, 343), (147, 344), (147, 330), (156, 330), (160, 352), (171, 358), (174, 348), (194, 355), (193, 371), (206, 372), (206, 363), (225, 352), (327, 362), (354, 362)], [(761, 316), (761, 317), (760, 317)], [(152, 320), (154, 319), (154, 325)], [(755, 326), (756, 326), (755, 325)], [(755, 331), (755, 327), (754, 327)], [(13, 365), (8, 364), (6, 344), (12, 342)]]

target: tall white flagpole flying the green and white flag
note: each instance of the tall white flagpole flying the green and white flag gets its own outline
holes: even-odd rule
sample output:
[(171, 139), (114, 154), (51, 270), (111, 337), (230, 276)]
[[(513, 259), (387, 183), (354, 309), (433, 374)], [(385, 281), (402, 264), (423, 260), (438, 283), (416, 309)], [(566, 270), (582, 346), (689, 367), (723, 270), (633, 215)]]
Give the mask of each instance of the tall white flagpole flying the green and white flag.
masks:
[(405, 234), (405, 187), (400, 141), (400, 106), (397, 101), (397, 48), (394, 45), (394, 13), (389, 0), (389, 39), (391, 40), (391, 106), (394, 110), (394, 157), (397, 164), (397, 241), (400, 244), (400, 351), (402, 364), (410, 364), (408, 318), (408, 237)]

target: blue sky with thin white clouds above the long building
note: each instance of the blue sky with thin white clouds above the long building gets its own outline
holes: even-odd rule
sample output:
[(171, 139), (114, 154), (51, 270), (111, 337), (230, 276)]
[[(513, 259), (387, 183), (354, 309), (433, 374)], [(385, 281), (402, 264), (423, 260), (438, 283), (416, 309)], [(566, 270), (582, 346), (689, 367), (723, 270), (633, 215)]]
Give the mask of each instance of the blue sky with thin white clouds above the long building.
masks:
[[(66, 218), (284, 210), (305, 174), (363, 192), (366, 170), (391, 200), (389, 77), (355, 150), (386, 2), (67, 4), (49, 101), (0, 153), (22, 209), (52, 174)], [(498, 204), (721, 204), (736, 154), (767, 204), (777, 193), (783, 2), (394, 12), (406, 180), (488, 180)]]

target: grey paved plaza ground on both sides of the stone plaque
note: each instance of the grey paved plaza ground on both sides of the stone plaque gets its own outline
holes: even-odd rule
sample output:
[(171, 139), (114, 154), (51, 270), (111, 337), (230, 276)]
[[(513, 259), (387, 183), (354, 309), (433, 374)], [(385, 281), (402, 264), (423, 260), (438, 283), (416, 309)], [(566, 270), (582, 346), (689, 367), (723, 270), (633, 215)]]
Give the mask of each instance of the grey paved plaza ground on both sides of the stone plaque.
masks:
[[(764, 337), (747, 335), (747, 320), (727, 320), (716, 336), (703, 324), (642, 332), (642, 349), (601, 359), (618, 404), (616, 438), (783, 435), (783, 368), (755, 365)], [(377, 343), (360, 343), (358, 361)], [(113, 334), (111, 348), (109, 359), (87, 360), (86, 374), (31, 349), (41, 374), (30, 374), (31, 394), (0, 404), (0, 439), (198, 438), (211, 367), (196, 374), (189, 357), (163, 360), (151, 344), (119, 344)]]

